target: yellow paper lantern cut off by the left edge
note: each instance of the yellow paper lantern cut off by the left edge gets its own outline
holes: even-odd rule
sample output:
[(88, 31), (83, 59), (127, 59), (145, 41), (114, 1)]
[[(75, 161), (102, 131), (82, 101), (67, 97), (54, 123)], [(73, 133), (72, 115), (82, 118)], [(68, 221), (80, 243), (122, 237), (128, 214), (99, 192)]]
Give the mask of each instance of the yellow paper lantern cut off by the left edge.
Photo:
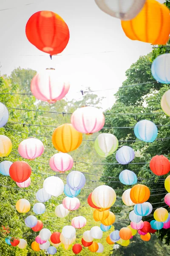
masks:
[(5, 135), (0, 135), (0, 157), (7, 157), (12, 150), (11, 140)]

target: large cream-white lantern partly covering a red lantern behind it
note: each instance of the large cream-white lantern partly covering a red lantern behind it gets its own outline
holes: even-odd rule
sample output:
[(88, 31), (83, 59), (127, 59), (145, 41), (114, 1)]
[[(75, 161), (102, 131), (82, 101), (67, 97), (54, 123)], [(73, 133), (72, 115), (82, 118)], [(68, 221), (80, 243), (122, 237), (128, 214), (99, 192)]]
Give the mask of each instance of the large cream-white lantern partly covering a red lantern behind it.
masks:
[(116, 193), (110, 186), (96, 187), (91, 195), (92, 202), (100, 208), (111, 207), (116, 201)]

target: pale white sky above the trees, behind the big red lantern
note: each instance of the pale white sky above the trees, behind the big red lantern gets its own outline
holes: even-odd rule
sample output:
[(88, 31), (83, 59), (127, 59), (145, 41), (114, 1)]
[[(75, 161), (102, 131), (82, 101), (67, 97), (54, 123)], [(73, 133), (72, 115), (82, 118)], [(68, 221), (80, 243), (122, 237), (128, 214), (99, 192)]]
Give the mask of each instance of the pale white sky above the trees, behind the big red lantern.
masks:
[[(70, 30), (62, 56), (54, 56), (52, 61), (25, 34), (29, 17), (41, 10), (56, 12)], [(152, 49), (150, 44), (127, 38), (120, 20), (102, 12), (94, 0), (0, 0), (0, 35), (1, 74), (10, 75), (19, 66), (37, 71), (54, 67), (71, 83), (68, 99), (81, 98), (77, 91), (86, 87), (118, 88), (130, 65)], [(113, 105), (116, 90), (97, 93), (106, 97), (103, 109)]]

